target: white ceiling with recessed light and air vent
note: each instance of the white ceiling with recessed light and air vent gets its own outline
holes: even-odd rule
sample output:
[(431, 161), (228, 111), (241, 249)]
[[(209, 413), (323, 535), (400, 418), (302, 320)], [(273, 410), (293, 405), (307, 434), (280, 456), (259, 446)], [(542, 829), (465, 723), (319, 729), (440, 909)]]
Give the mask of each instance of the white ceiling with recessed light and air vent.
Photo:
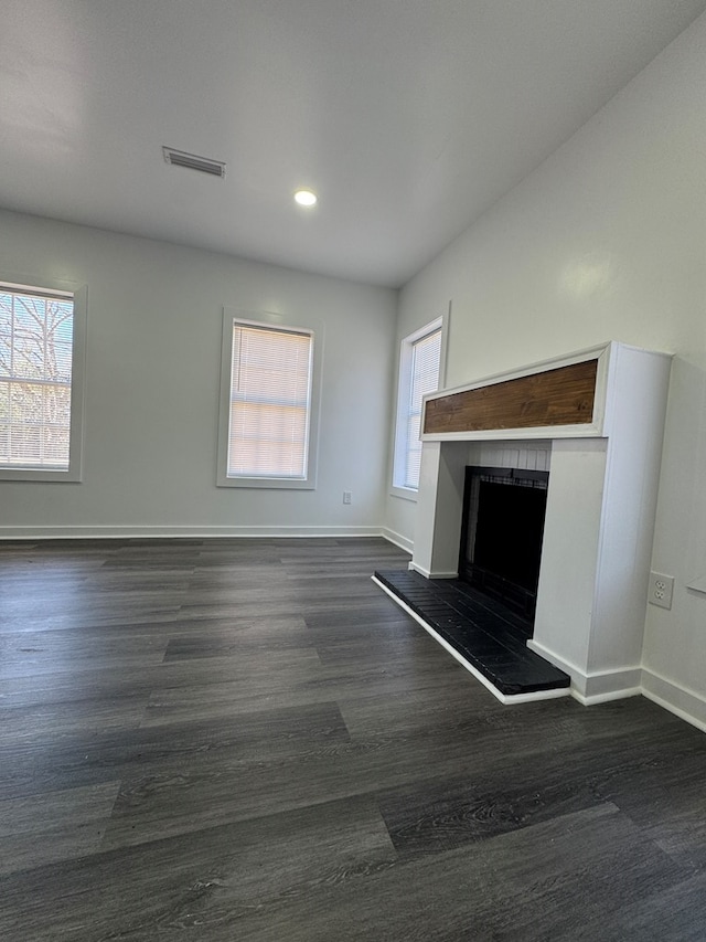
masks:
[(3, 0), (0, 205), (397, 287), (704, 9)]

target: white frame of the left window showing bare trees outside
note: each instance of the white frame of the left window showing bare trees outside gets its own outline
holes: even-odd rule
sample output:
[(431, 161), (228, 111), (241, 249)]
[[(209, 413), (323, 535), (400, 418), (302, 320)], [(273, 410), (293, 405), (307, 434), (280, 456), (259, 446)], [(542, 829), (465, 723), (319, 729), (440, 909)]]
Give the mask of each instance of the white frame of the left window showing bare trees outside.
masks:
[(0, 285), (14, 294), (64, 295), (73, 298), (73, 337), (71, 368), (71, 413), (68, 433), (68, 468), (10, 467), (0, 464), (0, 480), (75, 484), (83, 478), (84, 411), (86, 390), (86, 328), (88, 288), (86, 285), (38, 279), (0, 278)]

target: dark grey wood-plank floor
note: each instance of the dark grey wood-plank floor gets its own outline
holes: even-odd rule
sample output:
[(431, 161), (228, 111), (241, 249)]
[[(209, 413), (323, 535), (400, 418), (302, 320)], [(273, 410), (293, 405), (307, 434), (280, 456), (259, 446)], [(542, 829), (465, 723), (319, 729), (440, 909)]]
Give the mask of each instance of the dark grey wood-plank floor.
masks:
[(706, 737), (503, 707), (384, 540), (0, 543), (7, 942), (706, 939)]

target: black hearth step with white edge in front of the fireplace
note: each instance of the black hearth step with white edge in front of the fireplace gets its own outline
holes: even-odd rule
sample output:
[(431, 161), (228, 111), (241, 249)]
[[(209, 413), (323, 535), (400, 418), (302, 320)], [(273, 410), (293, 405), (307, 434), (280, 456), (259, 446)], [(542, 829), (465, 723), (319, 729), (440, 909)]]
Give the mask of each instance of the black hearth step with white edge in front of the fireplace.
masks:
[(375, 579), (503, 696), (569, 687), (567, 674), (526, 646), (531, 623), (467, 583), (408, 570), (377, 571)]

